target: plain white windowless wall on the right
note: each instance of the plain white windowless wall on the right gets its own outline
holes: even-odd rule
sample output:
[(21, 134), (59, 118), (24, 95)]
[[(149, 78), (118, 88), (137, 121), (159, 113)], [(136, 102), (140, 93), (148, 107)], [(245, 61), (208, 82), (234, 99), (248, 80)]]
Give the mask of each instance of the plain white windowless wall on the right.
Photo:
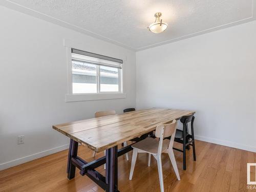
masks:
[(256, 21), (137, 52), (137, 108), (195, 110), (197, 139), (256, 152), (255, 45)]

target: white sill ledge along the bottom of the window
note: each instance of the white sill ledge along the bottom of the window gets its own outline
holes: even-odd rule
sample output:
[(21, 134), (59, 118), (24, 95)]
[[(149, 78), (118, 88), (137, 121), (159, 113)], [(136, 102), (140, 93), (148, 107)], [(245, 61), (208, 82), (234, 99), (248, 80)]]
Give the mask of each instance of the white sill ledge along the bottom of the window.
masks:
[(69, 94), (66, 95), (66, 102), (92, 101), (105, 99), (123, 99), (126, 93), (95, 93), (95, 94)]

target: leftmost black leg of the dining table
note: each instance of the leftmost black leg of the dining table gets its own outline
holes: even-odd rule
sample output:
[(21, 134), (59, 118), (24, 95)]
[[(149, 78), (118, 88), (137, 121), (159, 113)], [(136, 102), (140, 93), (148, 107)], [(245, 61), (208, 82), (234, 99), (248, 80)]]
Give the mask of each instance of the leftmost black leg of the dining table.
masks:
[(74, 141), (73, 139), (70, 139), (68, 167), (67, 167), (67, 173), (68, 173), (69, 179), (73, 179), (75, 177), (76, 166), (72, 164), (72, 157), (77, 157), (77, 148), (78, 148), (78, 142)]

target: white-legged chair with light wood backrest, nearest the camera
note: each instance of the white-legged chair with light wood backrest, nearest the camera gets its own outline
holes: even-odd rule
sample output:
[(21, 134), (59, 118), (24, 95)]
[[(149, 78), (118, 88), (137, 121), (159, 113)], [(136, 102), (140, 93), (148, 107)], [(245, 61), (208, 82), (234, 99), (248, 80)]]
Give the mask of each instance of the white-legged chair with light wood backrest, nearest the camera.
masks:
[[(176, 127), (177, 127), (176, 120), (174, 120), (170, 124), (158, 125), (156, 128), (156, 137), (159, 138), (159, 141), (157, 139), (148, 137), (132, 145), (133, 158), (132, 158), (132, 165), (131, 165), (130, 178), (129, 178), (130, 180), (132, 180), (133, 178), (133, 172), (134, 172), (134, 167), (135, 167), (138, 153), (148, 153), (148, 166), (150, 166), (151, 155), (153, 155), (153, 157), (157, 160), (161, 192), (164, 191), (162, 160), (161, 160), (162, 153), (167, 153), (169, 155), (169, 158), (173, 164), (177, 179), (180, 180), (180, 175), (179, 175), (178, 167), (177, 167), (175, 157), (174, 157), (174, 152), (173, 152), (173, 144), (174, 144)], [(170, 140), (164, 139), (165, 137), (169, 137), (169, 136), (171, 136)]]

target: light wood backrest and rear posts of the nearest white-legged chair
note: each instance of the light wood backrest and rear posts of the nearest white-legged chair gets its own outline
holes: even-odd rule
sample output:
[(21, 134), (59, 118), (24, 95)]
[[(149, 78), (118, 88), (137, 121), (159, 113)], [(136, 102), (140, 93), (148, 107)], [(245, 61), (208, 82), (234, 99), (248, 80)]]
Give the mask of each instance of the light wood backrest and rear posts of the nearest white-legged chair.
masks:
[(165, 137), (171, 136), (168, 147), (173, 148), (176, 128), (177, 128), (177, 121), (175, 119), (173, 120), (172, 123), (162, 124), (157, 126), (155, 136), (159, 138), (159, 145), (158, 145), (158, 152), (157, 152), (158, 155), (162, 153), (163, 138)]

